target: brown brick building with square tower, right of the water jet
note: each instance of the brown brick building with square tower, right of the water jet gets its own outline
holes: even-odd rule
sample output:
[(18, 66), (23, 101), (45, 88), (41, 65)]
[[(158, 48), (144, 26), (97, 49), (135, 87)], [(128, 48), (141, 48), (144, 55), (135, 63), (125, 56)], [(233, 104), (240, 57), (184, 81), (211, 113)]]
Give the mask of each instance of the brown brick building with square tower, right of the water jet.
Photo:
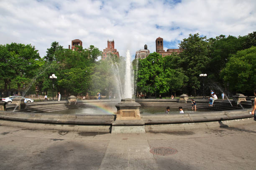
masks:
[(156, 38), (156, 52), (159, 53), (162, 56), (166, 55), (172, 55), (173, 52), (177, 52), (178, 54), (182, 52), (182, 49), (167, 49), (166, 51), (164, 50), (164, 39), (161, 37)]

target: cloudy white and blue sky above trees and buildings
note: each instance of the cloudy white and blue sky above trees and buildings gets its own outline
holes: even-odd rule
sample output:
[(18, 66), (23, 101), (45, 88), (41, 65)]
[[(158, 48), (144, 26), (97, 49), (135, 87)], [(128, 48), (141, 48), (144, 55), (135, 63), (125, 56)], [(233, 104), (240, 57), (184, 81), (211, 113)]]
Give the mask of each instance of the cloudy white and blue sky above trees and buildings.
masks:
[(31, 44), (41, 57), (51, 42), (74, 39), (99, 50), (115, 41), (121, 56), (148, 45), (178, 48), (189, 34), (207, 38), (256, 31), (256, 0), (0, 0), (0, 44)]

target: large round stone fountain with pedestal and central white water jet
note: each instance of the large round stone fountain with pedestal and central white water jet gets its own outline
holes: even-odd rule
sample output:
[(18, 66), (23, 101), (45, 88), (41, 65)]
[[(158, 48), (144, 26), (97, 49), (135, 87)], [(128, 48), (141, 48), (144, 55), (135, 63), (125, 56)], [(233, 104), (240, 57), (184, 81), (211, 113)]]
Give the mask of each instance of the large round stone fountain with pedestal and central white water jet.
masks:
[[(243, 119), (252, 117), (248, 112), (249, 110), (238, 107), (208, 107), (206, 100), (197, 102), (197, 110), (208, 109), (214, 112), (192, 112), (191, 104), (187, 103), (187, 95), (182, 95), (181, 101), (169, 100), (169, 99), (133, 99), (133, 74), (131, 71), (131, 56), (130, 52), (126, 53), (125, 63), (125, 75), (120, 74), (120, 68), (117, 63), (112, 64), (115, 70), (115, 77), (117, 82), (118, 95), (121, 102), (118, 100), (86, 100), (80, 101), (76, 97), (69, 97), (69, 101), (60, 102), (35, 102), (27, 105), (27, 110), (21, 110), (20, 112), (0, 111), (0, 119), (15, 120), (17, 127), (26, 128), (30, 122), (30, 128), (34, 129), (50, 129), (50, 130), (75, 130), (84, 132), (111, 132), (111, 133), (145, 133), (145, 132), (158, 132), (158, 131), (172, 131), (177, 127), (186, 130), (190, 128), (190, 124), (197, 122), (216, 121), (233, 121), (236, 119)], [(122, 70), (121, 70), (122, 71)], [(121, 77), (125, 77), (125, 81), (121, 80)], [(182, 100), (182, 97), (184, 100)], [(119, 103), (118, 103), (119, 102)], [(215, 101), (216, 103), (222, 102)], [(244, 102), (244, 101), (242, 101)], [(248, 101), (247, 101), (248, 102)], [(61, 105), (61, 106), (59, 106)], [(158, 110), (163, 109), (163, 114), (157, 115), (140, 115), (140, 107), (154, 107)], [(95, 106), (99, 108), (96, 113), (93, 114), (73, 114), (74, 108), (81, 108), (87, 106)], [(115, 111), (109, 112), (107, 107), (116, 106)], [(164, 114), (166, 106), (173, 107), (177, 110), (177, 107), (183, 106), (185, 114), (179, 114), (172, 112), (172, 114)], [(61, 107), (60, 113), (44, 113), (40, 111), (42, 107), (54, 107), (56, 110)], [(62, 107), (67, 108), (66, 110)], [(72, 109), (70, 109), (72, 108)], [(63, 109), (63, 110), (62, 110)], [(70, 111), (69, 111), (70, 109)], [(187, 109), (187, 110), (186, 110)], [(234, 110), (236, 109), (236, 110)], [(190, 111), (188, 111), (190, 110)], [(216, 111), (218, 110), (218, 111)], [(225, 110), (225, 111), (223, 111)], [(64, 112), (67, 111), (67, 112)], [(19, 122), (21, 121), (21, 122)], [(8, 123), (8, 122), (7, 122)], [(45, 124), (44, 124), (45, 123)], [(190, 124), (189, 124), (190, 123)], [(225, 122), (224, 122), (225, 123)], [(54, 124), (54, 125), (51, 125)], [(1, 125), (1, 121), (0, 121)], [(5, 125), (2, 123), (2, 125)], [(211, 125), (211, 124), (209, 124)]]

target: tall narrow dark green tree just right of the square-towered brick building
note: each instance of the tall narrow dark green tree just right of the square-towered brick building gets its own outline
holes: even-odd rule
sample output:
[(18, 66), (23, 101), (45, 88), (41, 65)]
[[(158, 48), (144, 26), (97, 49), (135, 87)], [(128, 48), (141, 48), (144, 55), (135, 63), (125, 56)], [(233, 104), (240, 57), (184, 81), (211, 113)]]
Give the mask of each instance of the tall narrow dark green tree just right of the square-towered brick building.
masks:
[(210, 61), (208, 57), (208, 45), (206, 37), (200, 37), (199, 33), (189, 34), (188, 38), (184, 38), (179, 44), (183, 51), (179, 54), (179, 67), (185, 70), (188, 79), (188, 88), (194, 90), (200, 87), (198, 77), (201, 73), (205, 73), (207, 65)]

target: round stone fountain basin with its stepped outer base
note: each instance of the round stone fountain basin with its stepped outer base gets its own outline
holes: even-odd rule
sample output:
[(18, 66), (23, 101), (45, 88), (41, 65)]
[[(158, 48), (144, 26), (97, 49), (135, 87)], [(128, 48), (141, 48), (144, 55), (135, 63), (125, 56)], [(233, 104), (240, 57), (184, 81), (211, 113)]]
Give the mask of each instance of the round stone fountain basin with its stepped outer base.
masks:
[[(100, 105), (100, 106), (115, 106), (118, 101), (115, 100), (90, 100), (90, 101), (77, 101), (76, 107), (82, 107), (84, 105)], [(178, 101), (174, 100), (139, 100), (137, 101), (140, 105), (146, 106), (161, 106), (163, 110), (166, 106), (174, 106), (178, 107), (179, 105), (183, 105), (184, 107), (190, 107), (189, 103), (178, 103)], [(219, 105), (226, 105), (225, 102), (220, 102)], [(40, 103), (30, 103), (27, 104), (26, 107), (30, 106), (52, 106), (56, 107), (57, 105), (69, 105), (68, 101), (61, 102), (40, 102)], [(217, 101), (215, 101), (217, 104)], [(137, 105), (137, 104), (136, 104)], [(135, 106), (136, 106), (135, 105)], [(197, 101), (198, 108), (202, 105), (207, 107), (207, 101), (202, 100), (202, 102)], [(137, 107), (137, 106), (136, 106)], [(227, 106), (226, 106), (227, 107)], [(209, 108), (209, 107), (207, 107)], [(210, 107), (212, 109), (214, 107)], [(233, 120), (241, 120), (240, 122), (249, 120), (253, 121), (251, 114), (249, 111), (251, 109), (239, 109), (234, 107), (236, 110), (223, 110), (223, 111), (214, 111), (214, 112), (185, 112), (184, 114), (172, 113), (172, 114), (157, 114), (157, 115), (141, 115), (141, 120), (116, 120), (116, 115), (72, 115), (72, 114), (54, 114), (54, 113), (33, 113), (33, 112), (13, 112), (13, 111), (0, 111), (0, 125), (10, 125), (15, 127), (26, 128), (24, 126), (28, 126), (32, 129), (51, 129), (51, 130), (83, 130), (84, 132), (108, 132), (110, 133), (114, 128), (118, 130), (120, 133), (127, 133), (127, 127), (130, 126), (130, 130), (133, 130), (133, 126), (140, 126), (140, 130), (143, 128), (146, 132), (154, 132), (154, 131), (168, 131), (172, 130), (171, 127), (175, 125), (175, 127), (182, 127), (181, 130), (184, 130), (184, 126), (193, 126), (194, 128), (199, 123), (200, 125), (206, 125), (207, 122), (215, 122), (218, 125), (218, 122), (223, 121), (233, 121)], [(33, 109), (32, 109), (33, 110)], [(244, 120), (244, 121), (243, 121)], [(1, 122), (5, 123), (1, 123)], [(13, 122), (14, 121), (14, 122)], [(122, 121), (122, 122), (120, 122)], [(202, 122), (202, 123), (200, 123)], [(233, 121), (234, 122), (234, 121)], [(239, 121), (235, 121), (239, 122)], [(196, 124), (195, 124), (196, 123)], [(198, 125), (199, 125), (198, 124)], [(43, 128), (42, 128), (43, 127)], [(160, 127), (160, 128), (159, 128)], [(163, 128), (169, 127), (169, 128)], [(138, 133), (140, 131), (137, 129), (134, 130), (134, 133)], [(177, 129), (173, 129), (177, 130)], [(128, 130), (129, 131), (129, 130)], [(113, 132), (113, 131), (112, 131)]]

